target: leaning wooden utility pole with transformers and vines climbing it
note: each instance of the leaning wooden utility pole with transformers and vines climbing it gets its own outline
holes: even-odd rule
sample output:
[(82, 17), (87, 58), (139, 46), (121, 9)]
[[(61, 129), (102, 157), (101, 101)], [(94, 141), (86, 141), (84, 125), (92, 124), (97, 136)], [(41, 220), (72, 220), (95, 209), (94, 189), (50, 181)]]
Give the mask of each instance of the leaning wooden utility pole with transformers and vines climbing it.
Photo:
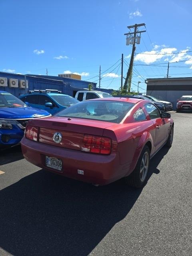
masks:
[(135, 53), (135, 49), (136, 49), (135, 43), (140, 44), (140, 36), (137, 37), (137, 41), (136, 41), (136, 36), (137, 36), (137, 34), (146, 32), (146, 30), (138, 31), (138, 27), (140, 27), (140, 26), (145, 26), (145, 23), (128, 26), (127, 28), (129, 28), (129, 29), (134, 28), (134, 32), (129, 32), (129, 33), (124, 34), (127, 36), (127, 45), (129, 45), (129, 44), (133, 45), (132, 54), (131, 54), (131, 58), (130, 58), (130, 64), (129, 64), (127, 76), (126, 76), (125, 83), (124, 83), (124, 90), (127, 91), (127, 89), (128, 89), (128, 92), (130, 92), (130, 89), (131, 89), (133, 61), (134, 61), (134, 53)]

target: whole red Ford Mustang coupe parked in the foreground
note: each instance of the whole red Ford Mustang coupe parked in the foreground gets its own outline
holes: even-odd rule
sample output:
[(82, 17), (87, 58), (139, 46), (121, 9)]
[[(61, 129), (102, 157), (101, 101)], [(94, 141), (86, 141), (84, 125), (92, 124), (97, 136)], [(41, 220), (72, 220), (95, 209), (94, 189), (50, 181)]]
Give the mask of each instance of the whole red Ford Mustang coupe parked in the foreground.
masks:
[(174, 122), (151, 101), (100, 98), (50, 118), (32, 119), (22, 139), (26, 160), (66, 177), (104, 185), (145, 184), (150, 158), (173, 140)]

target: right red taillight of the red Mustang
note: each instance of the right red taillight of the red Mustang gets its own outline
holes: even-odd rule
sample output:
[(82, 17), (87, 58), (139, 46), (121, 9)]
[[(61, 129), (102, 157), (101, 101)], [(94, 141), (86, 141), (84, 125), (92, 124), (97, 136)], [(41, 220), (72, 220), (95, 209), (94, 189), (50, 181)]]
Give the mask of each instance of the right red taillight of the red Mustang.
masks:
[(111, 153), (112, 140), (110, 138), (85, 134), (81, 150), (95, 154)]

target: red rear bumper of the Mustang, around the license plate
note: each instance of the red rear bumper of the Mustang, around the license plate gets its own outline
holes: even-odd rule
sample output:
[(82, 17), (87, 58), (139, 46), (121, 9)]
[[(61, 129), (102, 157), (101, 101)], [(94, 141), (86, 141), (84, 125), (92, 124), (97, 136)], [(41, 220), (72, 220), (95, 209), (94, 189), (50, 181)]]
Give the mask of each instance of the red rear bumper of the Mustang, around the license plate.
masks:
[[(32, 164), (84, 182), (105, 185), (122, 178), (127, 172), (120, 165), (119, 155), (116, 152), (106, 156), (97, 155), (34, 142), (25, 137), (21, 141), (21, 146), (24, 157)], [(61, 159), (62, 172), (46, 167), (45, 156)], [(84, 174), (78, 174), (78, 170), (83, 170)]]

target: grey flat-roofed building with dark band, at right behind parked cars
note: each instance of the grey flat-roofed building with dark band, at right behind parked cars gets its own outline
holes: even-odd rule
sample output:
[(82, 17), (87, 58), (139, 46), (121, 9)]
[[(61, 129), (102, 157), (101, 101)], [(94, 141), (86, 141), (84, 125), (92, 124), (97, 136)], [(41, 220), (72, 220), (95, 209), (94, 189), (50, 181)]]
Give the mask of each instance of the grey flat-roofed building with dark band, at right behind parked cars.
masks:
[(182, 95), (192, 95), (192, 77), (149, 78), (145, 83), (147, 84), (146, 95), (171, 102), (174, 110), (176, 110), (177, 100)]

